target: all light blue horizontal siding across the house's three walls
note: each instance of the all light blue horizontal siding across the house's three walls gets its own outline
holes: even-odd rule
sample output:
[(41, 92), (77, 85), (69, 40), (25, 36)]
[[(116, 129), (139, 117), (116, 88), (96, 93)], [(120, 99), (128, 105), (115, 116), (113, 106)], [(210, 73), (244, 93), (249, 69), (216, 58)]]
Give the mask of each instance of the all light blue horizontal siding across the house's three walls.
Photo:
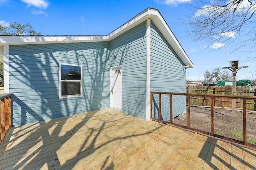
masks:
[[(150, 91), (185, 92), (184, 64), (153, 23), (150, 48)], [(59, 63), (82, 65), (82, 97), (59, 99)], [(109, 42), (10, 45), (12, 125), (109, 107), (110, 68), (121, 65), (122, 111), (146, 119), (146, 21)], [(185, 109), (184, 96), (174, 96), (174, 116)], [(169, 120), (169, 96), (162, 117)]]

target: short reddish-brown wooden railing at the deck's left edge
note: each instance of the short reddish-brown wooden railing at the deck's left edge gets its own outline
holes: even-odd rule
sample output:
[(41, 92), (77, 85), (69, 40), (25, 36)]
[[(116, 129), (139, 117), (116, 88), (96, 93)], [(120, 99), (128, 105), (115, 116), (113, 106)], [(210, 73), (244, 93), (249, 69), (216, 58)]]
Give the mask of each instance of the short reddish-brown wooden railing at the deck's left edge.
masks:
[(11, 93), (4, 93), (0, 95), (0, 138), (1, 144), (6, 132), (12, 123), (12, 106)]

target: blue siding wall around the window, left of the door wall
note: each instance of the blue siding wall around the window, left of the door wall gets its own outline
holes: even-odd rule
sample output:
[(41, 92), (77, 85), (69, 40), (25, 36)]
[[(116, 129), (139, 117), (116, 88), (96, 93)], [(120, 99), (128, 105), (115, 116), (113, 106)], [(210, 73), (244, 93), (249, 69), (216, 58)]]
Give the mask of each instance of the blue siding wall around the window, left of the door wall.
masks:
[[(108, 46), (108, 42), (9, 46), (13, 125), (109, 107)], [(82, 97), (59, 99), (59, 63), (82, 65)]]

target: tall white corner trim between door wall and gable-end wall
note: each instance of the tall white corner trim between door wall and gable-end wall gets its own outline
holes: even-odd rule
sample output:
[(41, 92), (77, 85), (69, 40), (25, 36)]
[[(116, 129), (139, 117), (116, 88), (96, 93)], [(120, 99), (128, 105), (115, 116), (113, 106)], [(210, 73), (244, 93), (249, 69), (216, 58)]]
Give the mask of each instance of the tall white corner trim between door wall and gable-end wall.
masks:
[(146, 58), (147, 58), (147, 76), (146, 76), (146, 120), (150, 121), (150, 42), (151, 42), (151, 20), (147, 20), (146, 30)]

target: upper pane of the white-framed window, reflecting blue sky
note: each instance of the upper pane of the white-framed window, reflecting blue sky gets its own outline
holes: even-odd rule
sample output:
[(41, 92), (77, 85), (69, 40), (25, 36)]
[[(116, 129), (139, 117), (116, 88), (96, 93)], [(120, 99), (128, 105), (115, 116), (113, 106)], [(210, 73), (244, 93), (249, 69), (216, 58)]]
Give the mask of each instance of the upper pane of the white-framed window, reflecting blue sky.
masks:
[(81, 80), (81, 67), (61, 64), (61, 80)]

